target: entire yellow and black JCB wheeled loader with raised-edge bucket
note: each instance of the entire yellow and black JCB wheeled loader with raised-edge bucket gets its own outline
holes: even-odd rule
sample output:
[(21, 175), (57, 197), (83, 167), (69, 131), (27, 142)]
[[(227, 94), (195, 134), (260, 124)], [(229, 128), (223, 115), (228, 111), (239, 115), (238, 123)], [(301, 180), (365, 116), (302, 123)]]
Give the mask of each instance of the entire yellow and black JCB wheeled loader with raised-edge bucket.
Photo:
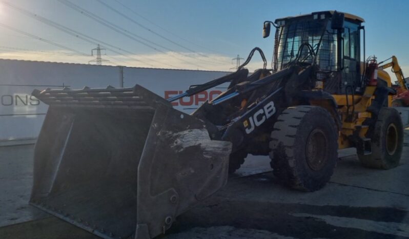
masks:
[[(361, 64), (363, 22), (336, 11), (267, 21), (272, 69), (255, 48), (236, 72), (167, 100), (138, 85), (34, 91), (49, 110), (30, 203), (103, 238), (145, 239), (226, 184), (247, 154), (270, 155), (278, 180), (304, 191), (330, 180), (338, 149), (356, 147), (366, 167), (396, 167), (396, 92), (375, 57)], [(256, 51), (264, 66), (249, 75)], [(224, 83), (191, 115), (171, 106)]]

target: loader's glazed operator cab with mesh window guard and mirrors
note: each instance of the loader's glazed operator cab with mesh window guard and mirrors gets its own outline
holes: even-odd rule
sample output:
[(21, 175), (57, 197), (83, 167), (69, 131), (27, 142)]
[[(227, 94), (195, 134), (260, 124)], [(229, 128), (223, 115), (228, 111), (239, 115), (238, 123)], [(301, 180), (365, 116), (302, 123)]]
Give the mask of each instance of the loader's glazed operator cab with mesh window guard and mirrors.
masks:
[(316, 64), (320, 86), (331, 94), (359, 93), (361, 24), (358, 16), (337, 11), (313, 12), (264, 22), (263, 37), (276, 27), (273, 70), (297, 62)]

